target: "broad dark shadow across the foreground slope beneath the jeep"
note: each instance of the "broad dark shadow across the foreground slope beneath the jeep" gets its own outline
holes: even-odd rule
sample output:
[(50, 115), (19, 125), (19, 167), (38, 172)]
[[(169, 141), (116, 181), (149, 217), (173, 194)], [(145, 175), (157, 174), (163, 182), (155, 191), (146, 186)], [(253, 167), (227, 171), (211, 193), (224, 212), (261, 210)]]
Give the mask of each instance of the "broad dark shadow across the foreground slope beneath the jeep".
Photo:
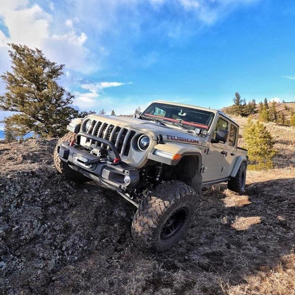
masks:
[(131, 237), (135, 207), (93, 183), (75, 187), (50, 175), (13, 217), (20, 227), (5, 237), (5, 284), (24, 294), (225, 294), (224, 284), (246, 282), (290, 253), (294, 186), (295, 178), (255, 182), (244, 196), (208, 189), (184, 239), (153, 255)]

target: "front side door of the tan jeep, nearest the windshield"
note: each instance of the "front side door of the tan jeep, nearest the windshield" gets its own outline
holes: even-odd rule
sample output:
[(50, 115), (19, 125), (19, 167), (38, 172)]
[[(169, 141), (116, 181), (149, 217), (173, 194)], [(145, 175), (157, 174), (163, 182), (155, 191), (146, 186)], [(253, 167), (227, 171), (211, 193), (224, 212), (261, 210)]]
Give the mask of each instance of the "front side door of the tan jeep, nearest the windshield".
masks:
[[(219, 117), (213, 139), (216, 138), (217, 129), (229, 130), (229, 121)], [(205, 161), (203, 180), (212, 181), (227, 177), (229, 171), (229, 161), (227, 161), (228, 142), (209, 143), (209, 151)]]

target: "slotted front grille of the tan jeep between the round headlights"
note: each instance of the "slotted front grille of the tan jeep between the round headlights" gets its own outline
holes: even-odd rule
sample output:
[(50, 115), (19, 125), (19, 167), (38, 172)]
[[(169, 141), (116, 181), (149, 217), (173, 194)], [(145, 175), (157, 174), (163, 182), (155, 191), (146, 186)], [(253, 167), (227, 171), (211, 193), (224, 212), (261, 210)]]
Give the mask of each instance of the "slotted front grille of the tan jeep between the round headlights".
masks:
[[(92, 126), (88, 133), (110, 141), (118, 149), (118, 153), (126, 157), (129, 155), (131, 140), (136, 135), (134, 130), (96, 120), (92, 121)], [(86, 142), (90, 145), (95, 144), (95, 141), (90, 139), (87, 139)], [(109, 149), (109, 147), (106, 147), (104, 144), (97, 143), (97, 145)]]

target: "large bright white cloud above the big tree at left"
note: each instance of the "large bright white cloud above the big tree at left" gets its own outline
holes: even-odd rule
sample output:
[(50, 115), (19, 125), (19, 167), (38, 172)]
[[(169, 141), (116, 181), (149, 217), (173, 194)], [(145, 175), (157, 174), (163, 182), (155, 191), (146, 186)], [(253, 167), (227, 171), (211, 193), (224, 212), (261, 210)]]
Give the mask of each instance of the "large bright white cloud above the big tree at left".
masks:
[[(53, 3), (50, 9), (54, 10)], [(46, 57), (58, 63), (65, 63), (67, 68), (81, 73), (90, 73), (99, 68), (99, 65), (91, 60), (93, 54), (85, 47), (87, 34), (77, 32), (74, 28), (73, 20), (65, 21), (67, 26), (54, 26), (56, 20), (54, 16), (47, 13), (39, 5), (29, 5), (28, 0), (1, 0), (0, 17), (7, 27), (9, 36), (5, 36), (0, 30), (0, 53), (6, 51), (7, 43), (25, 44), (31, 48), (37, 47), (43, 50)], [(3, 57), (0, 57), (0, 61)], [(0, 72), (7, 70), (0, 63)]]

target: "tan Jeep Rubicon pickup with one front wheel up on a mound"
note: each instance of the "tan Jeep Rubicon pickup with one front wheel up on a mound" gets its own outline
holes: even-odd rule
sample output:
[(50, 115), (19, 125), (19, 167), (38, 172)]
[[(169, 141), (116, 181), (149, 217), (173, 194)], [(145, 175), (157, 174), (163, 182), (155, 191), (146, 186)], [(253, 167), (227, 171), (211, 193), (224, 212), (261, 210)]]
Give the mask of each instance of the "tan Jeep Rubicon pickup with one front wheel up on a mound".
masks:
[(183, 236), (204, 186), (244, 191), (247, 150), (237, 147), (236, 122), (220, 111), (156, 101), (135, 118), (94, 114), (67, 129), (54, 152), (58, 171), (135, 205), (132, 236), (154, 252)]

